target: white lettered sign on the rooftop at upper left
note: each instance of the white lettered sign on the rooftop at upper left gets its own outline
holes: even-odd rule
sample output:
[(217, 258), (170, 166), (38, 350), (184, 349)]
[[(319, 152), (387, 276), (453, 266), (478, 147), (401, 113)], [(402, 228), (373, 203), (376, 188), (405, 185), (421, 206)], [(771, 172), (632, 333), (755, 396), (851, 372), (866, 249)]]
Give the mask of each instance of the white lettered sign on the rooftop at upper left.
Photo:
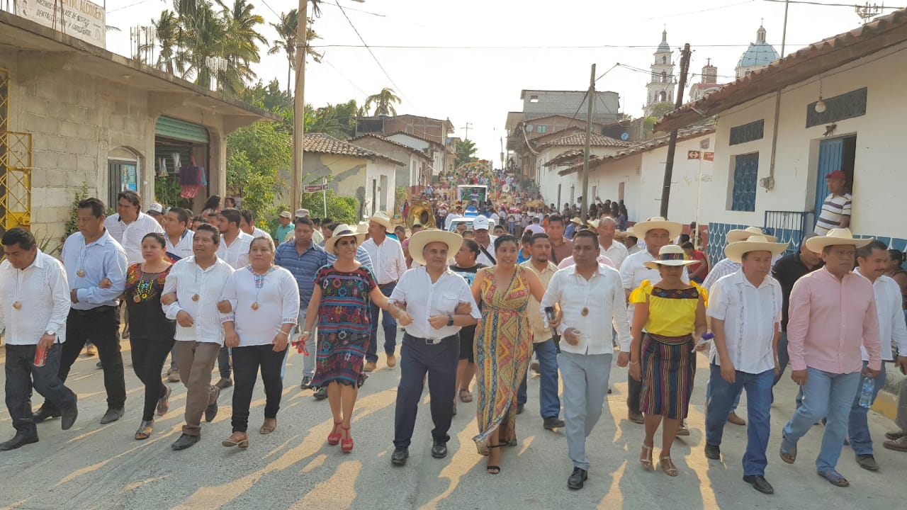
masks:
[(15, 15), (86, 43), (105, 46), (104, 8), (88, 0), (16, 0)]

